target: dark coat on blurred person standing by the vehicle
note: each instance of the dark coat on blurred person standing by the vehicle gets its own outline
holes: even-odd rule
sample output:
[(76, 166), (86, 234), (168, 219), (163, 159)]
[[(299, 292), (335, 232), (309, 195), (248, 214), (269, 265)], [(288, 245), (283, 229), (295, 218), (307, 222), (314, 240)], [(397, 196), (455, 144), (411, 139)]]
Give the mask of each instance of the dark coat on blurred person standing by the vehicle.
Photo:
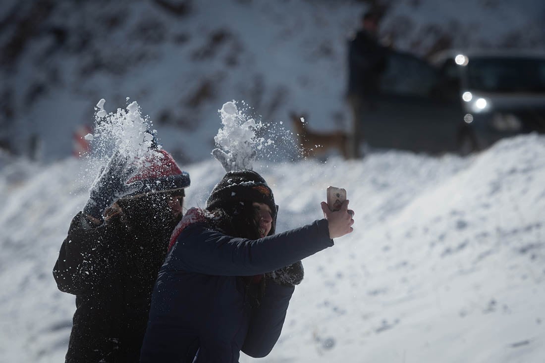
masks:
[(359, 31), (348, 43), (348, 94), (375, 94), (386, 69), (387, 49), (372, 34)]

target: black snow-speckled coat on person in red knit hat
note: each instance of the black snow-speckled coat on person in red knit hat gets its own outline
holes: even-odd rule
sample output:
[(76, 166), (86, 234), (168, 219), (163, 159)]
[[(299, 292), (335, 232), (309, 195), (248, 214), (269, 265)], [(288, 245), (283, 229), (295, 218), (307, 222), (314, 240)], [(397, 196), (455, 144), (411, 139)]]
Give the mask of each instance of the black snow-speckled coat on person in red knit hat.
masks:
[[(76, 295), (66, 362), (137, 362), (151, 293), (177, 221), (113, 216), (91, 228), (77, 214), (53, 276)], [(152, 222), (153, 221), (153, 222)]]

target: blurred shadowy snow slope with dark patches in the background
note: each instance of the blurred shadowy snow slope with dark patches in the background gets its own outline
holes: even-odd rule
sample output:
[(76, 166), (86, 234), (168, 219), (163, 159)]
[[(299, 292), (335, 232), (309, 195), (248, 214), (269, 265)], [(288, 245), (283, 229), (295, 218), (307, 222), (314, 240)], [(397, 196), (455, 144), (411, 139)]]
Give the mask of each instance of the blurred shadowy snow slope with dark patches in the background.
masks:
[[(346, 40), (365, 1), (4, 0), (0, 141), (51, 161), (72, 135), (136, 100), (177, 160), (208, 157), (217, 110), (244, 100), (265, 122), (306, 112), (347, 128)], [(542, 0), (391, 0), (381, 37), (427, 56), (446, 47), (545, 46)], [(290, 125), (284, 124), (288, 129)]]

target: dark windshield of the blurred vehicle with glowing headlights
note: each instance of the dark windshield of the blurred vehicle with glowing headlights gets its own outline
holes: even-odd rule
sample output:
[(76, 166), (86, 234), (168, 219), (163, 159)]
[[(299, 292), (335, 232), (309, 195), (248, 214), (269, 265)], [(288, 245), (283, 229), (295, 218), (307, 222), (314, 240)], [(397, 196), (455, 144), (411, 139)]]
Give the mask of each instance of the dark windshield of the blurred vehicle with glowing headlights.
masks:
[(545, 92), (545, 59), (469, 58), (468, 86), (483, 92)]

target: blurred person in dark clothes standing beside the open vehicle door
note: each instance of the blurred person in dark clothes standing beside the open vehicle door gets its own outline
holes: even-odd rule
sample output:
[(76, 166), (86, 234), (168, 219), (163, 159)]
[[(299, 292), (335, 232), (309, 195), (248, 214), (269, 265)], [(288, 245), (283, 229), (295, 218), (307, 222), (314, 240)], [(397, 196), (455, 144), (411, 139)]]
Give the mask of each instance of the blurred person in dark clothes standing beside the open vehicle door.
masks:
[(364, 112), (370, 115), (376, 108), (380, 79), (387, 65), (387, 47), (377, 39), (380, 16), (368, 11), (361, 16), (361, 29), (348, 42), (348, 92), (352, 109), (352, 157), (359, 158), (359, 144)]

